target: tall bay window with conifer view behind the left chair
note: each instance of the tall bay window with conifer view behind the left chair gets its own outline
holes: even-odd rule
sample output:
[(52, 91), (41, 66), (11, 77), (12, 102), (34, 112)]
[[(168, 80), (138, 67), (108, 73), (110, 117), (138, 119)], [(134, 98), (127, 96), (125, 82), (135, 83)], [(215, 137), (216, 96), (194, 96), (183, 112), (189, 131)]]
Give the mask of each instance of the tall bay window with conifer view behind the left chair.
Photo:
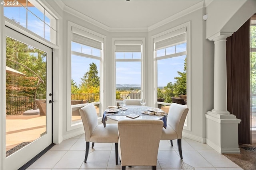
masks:
[(72, 26), (71, 117), (80, 121), (79, 109), (94, 103), (100, 116), (100, 61), (103, 39)]

